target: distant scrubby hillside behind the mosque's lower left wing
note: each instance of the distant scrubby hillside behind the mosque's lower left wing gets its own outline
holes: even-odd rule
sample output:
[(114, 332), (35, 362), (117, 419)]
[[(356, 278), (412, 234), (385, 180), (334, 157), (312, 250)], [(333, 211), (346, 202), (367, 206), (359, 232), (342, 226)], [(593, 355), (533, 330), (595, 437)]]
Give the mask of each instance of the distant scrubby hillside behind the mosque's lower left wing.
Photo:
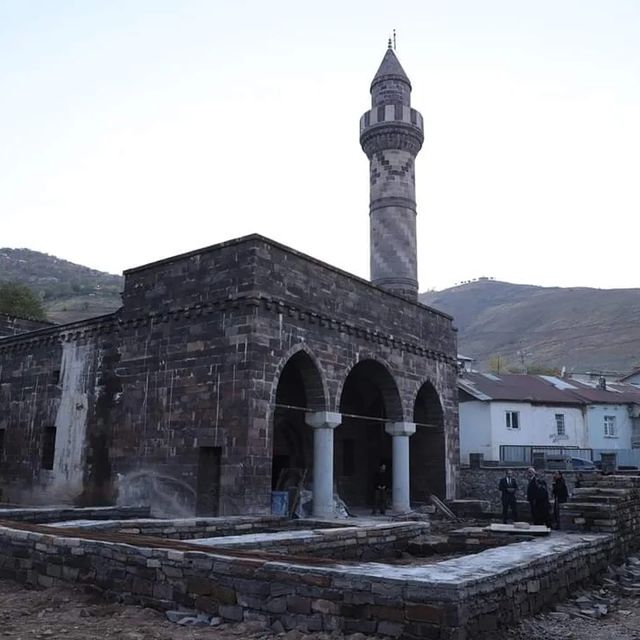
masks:
[(0, 249), (0, 282), (29, 285), (53, 322), (72, 322), (120, 307), (123, 278), (30, 249)]

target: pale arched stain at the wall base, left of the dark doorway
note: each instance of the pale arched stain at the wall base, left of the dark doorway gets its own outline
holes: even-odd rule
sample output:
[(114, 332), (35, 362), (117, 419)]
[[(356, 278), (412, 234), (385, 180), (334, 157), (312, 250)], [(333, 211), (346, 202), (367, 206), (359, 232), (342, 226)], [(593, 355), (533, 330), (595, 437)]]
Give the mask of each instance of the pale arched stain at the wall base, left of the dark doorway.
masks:
[(118, 474), (116, 504), (119, 507), (149, 506), (155, 517), (191, 517), (196, 492), (186, 482), (151, 470)]

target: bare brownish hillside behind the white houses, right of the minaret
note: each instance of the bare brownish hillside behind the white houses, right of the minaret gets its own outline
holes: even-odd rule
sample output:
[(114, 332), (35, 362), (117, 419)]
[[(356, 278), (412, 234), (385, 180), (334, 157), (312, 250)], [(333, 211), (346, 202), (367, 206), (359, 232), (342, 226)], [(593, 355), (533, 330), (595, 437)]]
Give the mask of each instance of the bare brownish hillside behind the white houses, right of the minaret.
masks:
[(488, 369), (566, 367), (627, 372), (640, 366), (640, 289), (536, 287), (478, 280), (423, 293), (421, 302), (451, 314), (458, 351)]

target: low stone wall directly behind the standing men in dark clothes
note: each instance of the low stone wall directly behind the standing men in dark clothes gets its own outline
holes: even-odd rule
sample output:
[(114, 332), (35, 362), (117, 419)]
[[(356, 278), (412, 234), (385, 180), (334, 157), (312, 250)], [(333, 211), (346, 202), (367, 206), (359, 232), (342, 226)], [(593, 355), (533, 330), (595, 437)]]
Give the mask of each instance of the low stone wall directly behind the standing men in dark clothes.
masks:
[[(475, 498), (486, 500), (490, 504), (490, 510), (494, 513), (502, 512), (502, 502), (498, 491), (498, 482), (504, 477), (506, 467), (461, 467), (460, 468), (460, 498)], [(518, 483), (518, 508), (520, 503), (527, 507), (527, 478), (528, 467), (509, 467)], [(571, 493), (575, 487), (576, 476), (581, 473), (584, 479), (595, 476), (592, 472), (563, 471), (567, 489)], [(545, 480), (551, 492), (553, 483), (553, 471), (544, 471)], [(550, 496), (551, 497), (551, 496)], [(520, 516), (519, 516), (520, 517)], [(522, 512), (523, 520), (529, 519), (528, 510)]]

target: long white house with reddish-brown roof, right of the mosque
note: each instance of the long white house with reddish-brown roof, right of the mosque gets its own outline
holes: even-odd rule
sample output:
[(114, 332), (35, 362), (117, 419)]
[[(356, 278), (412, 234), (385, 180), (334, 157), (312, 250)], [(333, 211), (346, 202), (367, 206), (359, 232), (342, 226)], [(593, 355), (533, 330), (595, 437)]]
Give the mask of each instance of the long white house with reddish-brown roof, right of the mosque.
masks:
[(640, 446), (640, 389), (632, 385), (465, 372), (458, 390), (463, 463), (470, 453), (514, 459), (508, 447)]

